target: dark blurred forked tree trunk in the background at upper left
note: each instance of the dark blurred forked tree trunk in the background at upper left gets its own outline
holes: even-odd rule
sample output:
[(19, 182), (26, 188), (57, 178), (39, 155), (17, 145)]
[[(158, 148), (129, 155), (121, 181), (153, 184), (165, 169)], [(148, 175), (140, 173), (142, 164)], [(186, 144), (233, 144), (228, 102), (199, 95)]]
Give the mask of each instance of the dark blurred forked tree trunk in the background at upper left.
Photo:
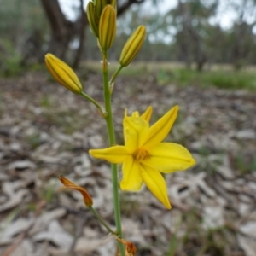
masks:
[[(83, 10), (84, 1), (80, 0), (81, 15), (75, 20), (67, 20), (61, 10), (58, 0), (40, 0), (44, 8), (45, 15), (49, 20), (51, 29), (51, 39), (48, 51), (62, 60), (66, 59), (68, 45), (74, 38), (79, 38), (79, 48), (73, 60), (73, 66), (78, 67), (80, 58), (84, 50), (84, 29), (88, 26), (88, 20)], [(143, 3), (144, 0), (127, 0), (121, 6), (118, 5), (118, 15), (125, 13), (133, 3)]]

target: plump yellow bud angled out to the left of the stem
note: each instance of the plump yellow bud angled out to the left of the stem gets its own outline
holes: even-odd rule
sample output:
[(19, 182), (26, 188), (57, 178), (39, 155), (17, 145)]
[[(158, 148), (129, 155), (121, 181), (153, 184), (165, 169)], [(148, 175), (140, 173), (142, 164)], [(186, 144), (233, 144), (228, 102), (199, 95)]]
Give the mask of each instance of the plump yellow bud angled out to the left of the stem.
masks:
[(53, 77), (68, 90), (79, 94), (83, 90), (83, 86), (79, 81), (73, 69), (69, 67), (64, 61), (61, 61), (55, 55), (45, 55), (45, 63), (49, 72)]

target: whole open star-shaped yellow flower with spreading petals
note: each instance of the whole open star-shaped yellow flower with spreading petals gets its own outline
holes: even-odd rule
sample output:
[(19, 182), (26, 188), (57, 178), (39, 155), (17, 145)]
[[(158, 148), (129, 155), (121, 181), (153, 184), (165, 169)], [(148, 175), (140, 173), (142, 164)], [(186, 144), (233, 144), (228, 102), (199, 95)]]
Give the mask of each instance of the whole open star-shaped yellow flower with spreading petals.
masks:
[(111, 163), (123, 164), (120, 188), (137, 191), (145, 183), (153, 195), (171, 209), (166, 182), (160, 174), (185, 170), (195, 165), (189, 151), (176, 143), (162, 143), (177, 118), (178, 107), (170, 109), (154, 125), (149, 126), (152, 107), (141, 116), (134, 112), (123, 121), (125, 146), (91, 149), (89, 153)]

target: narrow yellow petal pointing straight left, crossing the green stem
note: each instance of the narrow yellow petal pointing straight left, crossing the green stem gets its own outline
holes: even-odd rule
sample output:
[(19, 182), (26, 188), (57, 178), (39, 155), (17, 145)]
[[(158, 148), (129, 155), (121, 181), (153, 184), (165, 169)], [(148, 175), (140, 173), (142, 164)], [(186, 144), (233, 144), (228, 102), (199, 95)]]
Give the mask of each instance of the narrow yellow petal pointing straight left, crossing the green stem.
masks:
[(125, 146), (113, 146), (110, 148), (90, 149), (89, 154), (95, 158), (107, 160), (113, 164), (122, 163), (130, 154)]

